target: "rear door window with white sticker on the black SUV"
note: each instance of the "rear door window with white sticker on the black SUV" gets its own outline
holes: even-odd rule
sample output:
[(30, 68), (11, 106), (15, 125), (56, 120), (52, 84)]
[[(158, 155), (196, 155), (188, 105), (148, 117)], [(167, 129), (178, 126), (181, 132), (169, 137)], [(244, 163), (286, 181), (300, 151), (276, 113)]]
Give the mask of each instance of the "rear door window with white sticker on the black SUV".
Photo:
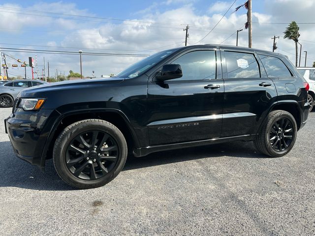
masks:
[(227, 78), (259, 78), (259, 67), (253, 54), (224, 52)]

